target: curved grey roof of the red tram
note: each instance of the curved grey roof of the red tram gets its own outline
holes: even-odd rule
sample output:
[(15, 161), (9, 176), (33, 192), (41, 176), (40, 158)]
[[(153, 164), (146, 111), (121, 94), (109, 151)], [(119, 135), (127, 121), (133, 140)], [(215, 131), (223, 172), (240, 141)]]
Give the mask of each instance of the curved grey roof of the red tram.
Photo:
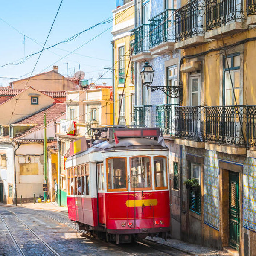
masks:
[(168, 150), (167, 147), (163, 147), (156, 140), (148, 138), (120, 138), (119, 143), (108, 143), (108, 141), (100, 142), (96, 145), (91, 146), (86, 151), (70, 156), (68, 160), (76, 157), (81, 157), (85, 154), (90, 154), (100, 151), (119, 151), (119, 150), (137, 150), (137, 149), (155, 149), (155, 150)]

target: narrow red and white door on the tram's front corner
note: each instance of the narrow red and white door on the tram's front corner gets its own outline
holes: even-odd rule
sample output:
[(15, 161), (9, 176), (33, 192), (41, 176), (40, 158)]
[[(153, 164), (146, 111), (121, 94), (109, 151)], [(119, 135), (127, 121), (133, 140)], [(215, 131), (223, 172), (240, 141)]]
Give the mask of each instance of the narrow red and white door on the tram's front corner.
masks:
[(105, 215), (105, 192), (104, 192), (104, 168), (103, 162), (96, 163), (97, 169), (97, 195), (98, 195), (98, 213), (99, 213), (99, 225), (106, 224)]

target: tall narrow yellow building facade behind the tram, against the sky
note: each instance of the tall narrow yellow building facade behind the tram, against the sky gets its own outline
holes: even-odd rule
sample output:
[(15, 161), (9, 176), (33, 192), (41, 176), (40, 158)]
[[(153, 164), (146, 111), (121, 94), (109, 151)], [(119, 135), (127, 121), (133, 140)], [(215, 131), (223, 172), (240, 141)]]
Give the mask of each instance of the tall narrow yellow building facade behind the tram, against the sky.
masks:
[[(134, 28), (134, 1), (126, 1), (113, 13), (114, 125), (134, 124), (134, 64), (130, 62), (130, 30)], [(120, 115), (119, 115), (120, 113)], [(119, 117), (120, 116), (120, 117)]]

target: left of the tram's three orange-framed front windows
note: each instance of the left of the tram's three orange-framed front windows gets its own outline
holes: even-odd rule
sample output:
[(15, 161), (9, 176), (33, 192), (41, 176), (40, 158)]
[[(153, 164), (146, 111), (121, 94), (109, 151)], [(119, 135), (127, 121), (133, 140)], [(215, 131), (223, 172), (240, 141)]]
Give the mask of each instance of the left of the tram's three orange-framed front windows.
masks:
[(107, 183), (108, 191), (118, 189), (127, 190), (127, 179), (126, 179), (126, 158), (115, 157), (107, 159), (108, 173)]

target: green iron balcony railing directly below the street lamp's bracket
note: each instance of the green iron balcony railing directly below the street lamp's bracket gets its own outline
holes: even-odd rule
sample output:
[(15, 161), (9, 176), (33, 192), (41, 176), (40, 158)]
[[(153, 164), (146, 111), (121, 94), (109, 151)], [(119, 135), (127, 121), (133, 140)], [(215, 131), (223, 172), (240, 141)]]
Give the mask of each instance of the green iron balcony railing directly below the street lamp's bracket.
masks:
[(175, 134), (175, 106), (177, 105), (156, 105), (156, 127), (159, 127), (163, 134)]

